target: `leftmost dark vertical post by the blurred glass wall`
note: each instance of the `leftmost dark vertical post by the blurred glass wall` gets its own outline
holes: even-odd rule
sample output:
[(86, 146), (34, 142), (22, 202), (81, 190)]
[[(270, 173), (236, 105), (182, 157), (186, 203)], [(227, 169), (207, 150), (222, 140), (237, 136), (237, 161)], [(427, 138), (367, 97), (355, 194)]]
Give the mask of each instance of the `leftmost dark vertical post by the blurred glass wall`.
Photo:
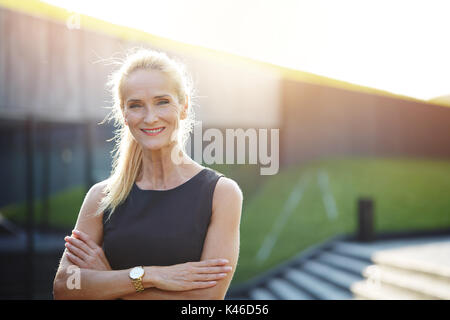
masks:
[(26, 256), (25, 277), (28, 299), (34, 293), (34, 119), (29, 116), (25, 121), (25, 193), (26, 193)]

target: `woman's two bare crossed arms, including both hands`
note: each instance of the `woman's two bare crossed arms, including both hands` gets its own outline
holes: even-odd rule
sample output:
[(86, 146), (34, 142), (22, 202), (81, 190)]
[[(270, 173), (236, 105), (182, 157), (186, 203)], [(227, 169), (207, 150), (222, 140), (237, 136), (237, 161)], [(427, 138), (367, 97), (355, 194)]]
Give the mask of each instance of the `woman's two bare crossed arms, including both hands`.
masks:
[[(145, 290), (136, 293), (130, 269), (111, 270), (101, 249), (103, 223), (93, 215), (102, 197), (104, 182), (87, 193), (75, 225), (66, 237), (53, 284), (55, 299), (224, 299), (239, 256), (239, 225), (243, 195), (233, 180), (218, 180), (213, 196), (211, 222), (200, 261), (167, 267), (144, 266)], [(225, 244), (225, 245), (224, 245)], [(67, 286), (68, 268), (79, 267), (80, 287)]]

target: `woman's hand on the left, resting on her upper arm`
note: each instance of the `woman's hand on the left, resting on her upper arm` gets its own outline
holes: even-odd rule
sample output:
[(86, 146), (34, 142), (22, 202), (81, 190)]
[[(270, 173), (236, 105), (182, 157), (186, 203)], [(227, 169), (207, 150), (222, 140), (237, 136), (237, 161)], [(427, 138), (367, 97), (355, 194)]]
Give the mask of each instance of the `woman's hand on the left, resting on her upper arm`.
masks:
[(103, 249), (86, 233), (74, 230), (71, 237), (65, 237), (67, 258), (84, 269), (111, 270)]

